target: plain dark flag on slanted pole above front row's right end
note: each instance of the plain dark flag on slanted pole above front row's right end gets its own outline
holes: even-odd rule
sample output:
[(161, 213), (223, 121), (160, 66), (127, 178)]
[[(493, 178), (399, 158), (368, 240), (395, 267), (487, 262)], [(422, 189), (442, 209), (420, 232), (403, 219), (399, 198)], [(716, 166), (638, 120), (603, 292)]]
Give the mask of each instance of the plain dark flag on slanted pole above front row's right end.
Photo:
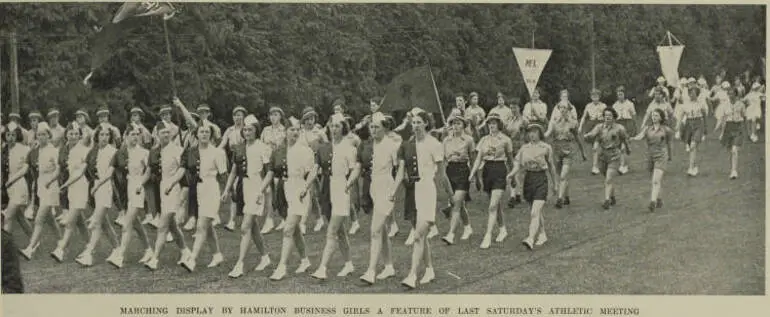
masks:
[(429, 66), (415, 67), (396, 76), (388, 85), (381, 109), (396, 111), (414, 107), (420, 107), (430, 113), (442, 112)]

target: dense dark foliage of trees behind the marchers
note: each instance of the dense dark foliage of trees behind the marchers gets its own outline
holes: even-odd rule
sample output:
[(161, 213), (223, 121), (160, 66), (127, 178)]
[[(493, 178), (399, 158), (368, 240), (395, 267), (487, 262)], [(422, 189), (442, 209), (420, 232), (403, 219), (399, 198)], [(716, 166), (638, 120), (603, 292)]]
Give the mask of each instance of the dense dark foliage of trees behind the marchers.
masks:
[[(8, 31), (19, 43), (22, 112), (108, 105), (125, 122), (133, 105), (168, 103), (171, 80), (159, 17), (122, 42), (97, 70), (92, 87), (90, 44), (117, 3), (0, 4), (2, 101), (7, 111)], [(188, 105), (208, 103), (225, 123), (243, 105), (321, 113), (345, 98), (361, 113), (398, 73), (430, 62), (445, 108), (457, 91), (478, 91), (491, 105), (498, 90), (526, 99), (511, 47), (553, 49), (541, 77), (545, 100), (569, 88), (582, 106), (596, 85), (623, 84), (632, 97), (660, 74), (655, 46), (670, 30), (685, 45), (680, 73), (763, 71), (764, 6), (526, 5), (526, 4), (184, 4), (169, 21), (176, 88)], [(592, 25), (593, 18), (593, 25)], [(593, 30), (593, 32), (592, 32)], [(593, 36), (592, 36), (593, 35)], [(637, 103), (642, 102), (639, 99)], [(646, 102), (646, 100), (644, 100)], [(151, 120), (149, 118), (148, 120)]]

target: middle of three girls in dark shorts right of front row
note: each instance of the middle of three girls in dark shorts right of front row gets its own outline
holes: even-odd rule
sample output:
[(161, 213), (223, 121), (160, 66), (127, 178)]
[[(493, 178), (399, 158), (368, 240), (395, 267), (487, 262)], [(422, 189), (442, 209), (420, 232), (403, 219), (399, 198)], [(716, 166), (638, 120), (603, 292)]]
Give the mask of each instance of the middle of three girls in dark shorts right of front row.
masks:
[(507, 187), (505, 175), (508, 174), (507, 162), (513, 159), (513, 144), (511, 139), (503, 134), (503, 122), (496, 115), (487, 117), (486, 126), (489, 134), (481, 138), (476, 147), (476, 160), (471, 168), (469, 181), (472, 181), (476, 172), (481, 168), (484, 191), (489, 194), (489, 217), (487, 218), (487, 231), (481, 242), (482, 249), (488, 249), (492, 243), (492, 230), (495, 224), (500, 227), (496, 242), (503, 242), (508, 236), (508, 230), (503, 221), (502, 197)]

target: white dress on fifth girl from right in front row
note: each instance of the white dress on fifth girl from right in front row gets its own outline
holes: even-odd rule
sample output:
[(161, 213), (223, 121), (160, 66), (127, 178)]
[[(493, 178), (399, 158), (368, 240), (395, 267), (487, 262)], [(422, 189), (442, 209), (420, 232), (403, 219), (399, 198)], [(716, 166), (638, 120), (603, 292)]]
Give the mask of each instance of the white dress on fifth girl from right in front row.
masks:
[(265, 214), (265, 201), (270, 195), (270, 187), (262, 194), (262, 199), (257, 201), (257, 193), (262, 186), (262, 171), (265, 164), (270, 163), (272, 149), (270, 145), (255, 140), (253, 144), (246, 144), (246, 176), (243, 178), (243, 214), (262, 216)]

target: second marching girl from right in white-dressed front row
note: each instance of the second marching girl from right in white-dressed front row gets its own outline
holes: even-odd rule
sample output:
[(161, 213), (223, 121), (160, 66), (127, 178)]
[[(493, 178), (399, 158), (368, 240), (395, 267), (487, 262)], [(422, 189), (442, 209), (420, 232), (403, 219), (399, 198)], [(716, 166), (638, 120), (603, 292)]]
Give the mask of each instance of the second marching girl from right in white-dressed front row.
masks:
[[(380, 112), (372, 114), (369, 130), (372, 138), (371, 148), (371, 167), (370, 181), (371, 186), (362, 186), (362, 190), (368, 190), (372, 199), (372, 223), (371, 223), (371, 245), (369, 247), (369, 266), (361, 280), (369, 284), (375, 282), (375, 270), (377, 262), (382, 253), (385, 268), (376, 276), (378, 280), (384, 280), (396, 275), (393, 267), (393, 257), (391, 255), (392, 244), (387, 230), (388, 218), (394, 218), (393, 201), (387, 196), (377, 195), (380, 193), (394, 192), (397, 184), (393, 177), (394, 168), (398, 167), (398, 149), (401, 146), (399, 140), (394, 140), (387, 136), (393, 123)], [(363, 158), (363, 157), (362, 157)], [(361, 163), (366, 162), (361, 159)]]

